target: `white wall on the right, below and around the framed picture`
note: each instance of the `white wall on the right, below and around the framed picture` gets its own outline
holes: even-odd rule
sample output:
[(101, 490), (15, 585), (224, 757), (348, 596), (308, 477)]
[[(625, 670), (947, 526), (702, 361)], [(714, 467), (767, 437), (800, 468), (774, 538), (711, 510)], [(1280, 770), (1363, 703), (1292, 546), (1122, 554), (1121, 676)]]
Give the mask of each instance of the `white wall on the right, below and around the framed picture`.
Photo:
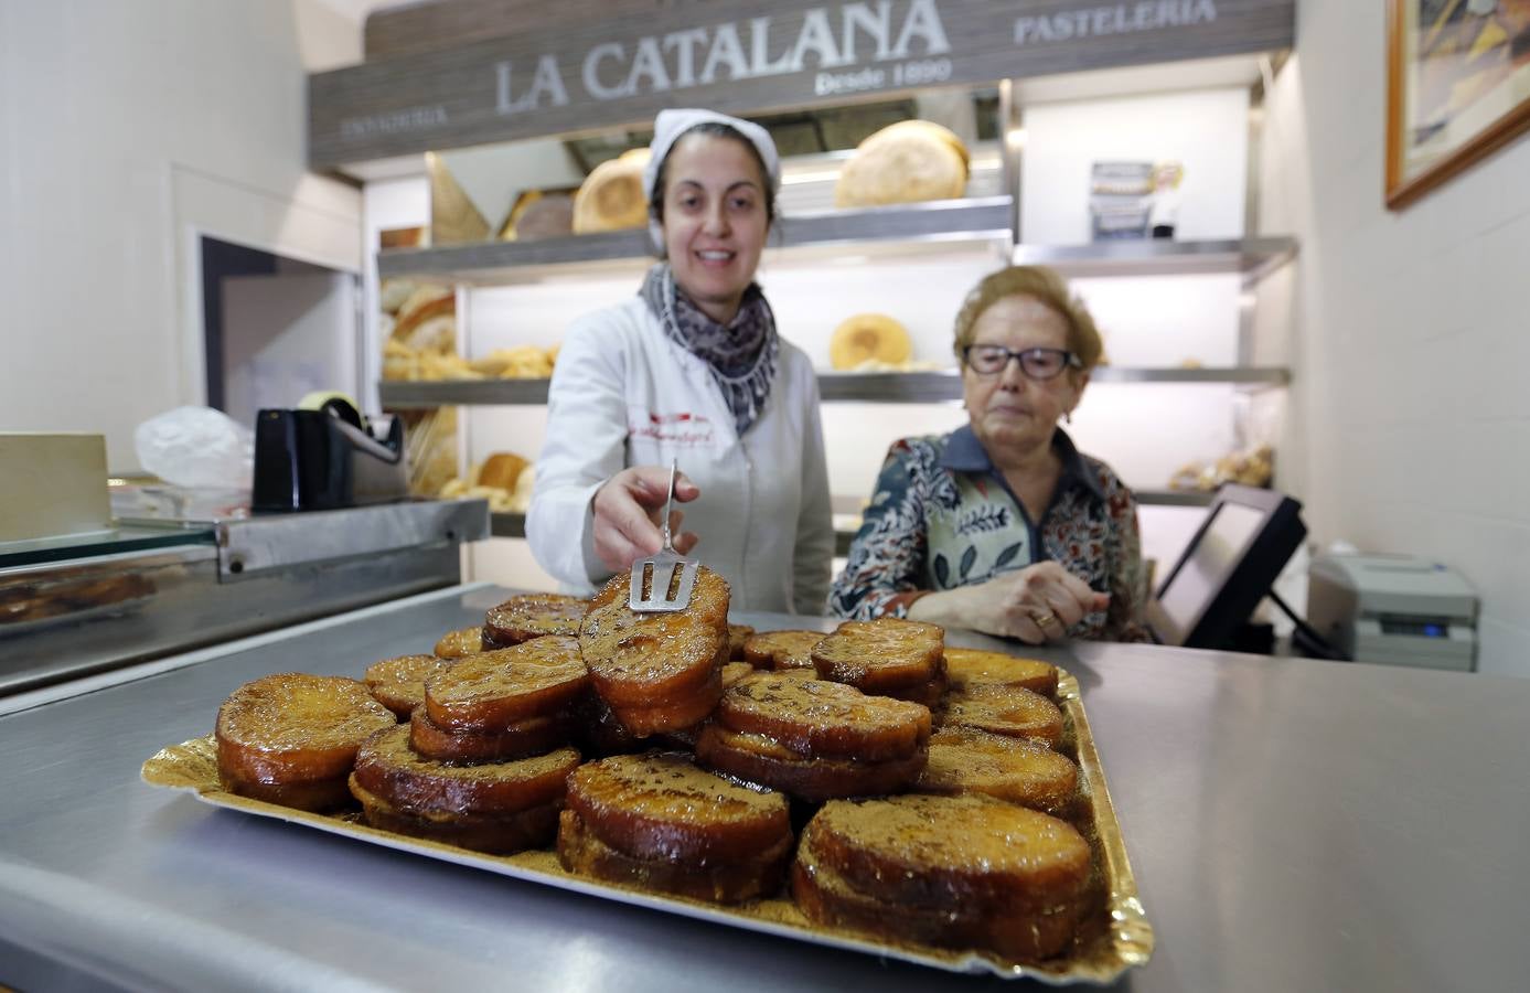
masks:
[(1320, 542), (1460, 569), (1480, 669), (1530, 676), (1530, 139), (1391, 213), (1383, 5), (1297, 26), (1262, 162), (1262, 226), (1302, 242), (1282, 477)]

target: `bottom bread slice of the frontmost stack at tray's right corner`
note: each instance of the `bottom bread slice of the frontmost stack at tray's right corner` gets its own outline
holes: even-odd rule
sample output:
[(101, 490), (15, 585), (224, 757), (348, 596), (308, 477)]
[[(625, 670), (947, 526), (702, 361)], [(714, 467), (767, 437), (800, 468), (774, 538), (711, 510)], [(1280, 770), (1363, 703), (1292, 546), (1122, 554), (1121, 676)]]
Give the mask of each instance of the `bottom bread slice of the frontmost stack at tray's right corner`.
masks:
[(887, 903), (851, 887), (843, 877), (799, 846), (791, 895), (808, 920), (864, 932), (884, 941), (949, 949), (990, 949), (1016, 961), (1040, 961), (1068, 950), (1079, 901), (1027, 910), (975, 910)]

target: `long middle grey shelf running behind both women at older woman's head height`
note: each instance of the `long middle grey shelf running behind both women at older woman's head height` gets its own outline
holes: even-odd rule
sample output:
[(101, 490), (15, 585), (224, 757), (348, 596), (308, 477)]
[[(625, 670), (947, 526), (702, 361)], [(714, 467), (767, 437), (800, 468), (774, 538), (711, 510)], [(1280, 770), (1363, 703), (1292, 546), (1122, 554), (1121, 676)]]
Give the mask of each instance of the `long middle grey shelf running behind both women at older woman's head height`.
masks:
[[(1126, 369), (1100, 366), (1092, 383), (1229, 383), (1233, 386), (1287, 386), (1291, 372), (1281, 366), (1233, 366), (1219, 369)], [(379, 387), (390, 410), (421, 407), (514, 405), (548, 402), (546, 379), (445, 379), (439, 383), (389, 381)], [(819, 393), (825, 402), (939, 404), (961, 399), (961, 376), (939, 372), (820, 372)]]

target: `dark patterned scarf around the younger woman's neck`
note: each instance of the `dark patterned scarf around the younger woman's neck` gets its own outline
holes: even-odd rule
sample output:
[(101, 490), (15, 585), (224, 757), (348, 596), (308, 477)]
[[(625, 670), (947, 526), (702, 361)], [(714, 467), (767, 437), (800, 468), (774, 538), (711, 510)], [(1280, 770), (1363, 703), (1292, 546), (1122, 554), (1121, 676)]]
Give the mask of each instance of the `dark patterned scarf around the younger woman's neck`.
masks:
[(750, 283), (739, 312), (727, 324), (719, 324), (676, 289), (675, 274), (667, 262), (661, 262), (649, 269), (638, 295), (664, 324), (664, 334), (711, 369), (711, 378), (722, 390), (742, 436), (765, 412), (780, 355), (776, 315), (765, 303), (765, 294)]

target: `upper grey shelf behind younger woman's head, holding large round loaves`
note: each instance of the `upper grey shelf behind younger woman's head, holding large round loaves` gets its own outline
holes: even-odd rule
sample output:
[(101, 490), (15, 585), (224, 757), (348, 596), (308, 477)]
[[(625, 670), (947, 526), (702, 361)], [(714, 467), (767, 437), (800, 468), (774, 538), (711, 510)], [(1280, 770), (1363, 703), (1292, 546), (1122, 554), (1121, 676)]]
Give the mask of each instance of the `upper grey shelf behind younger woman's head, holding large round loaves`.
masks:
[[(803, 213), (780, 219), (780, 240), (797, 248), (852, 243), (857, 246), (930, 242), (1010, 240), (1013, 203), (1008, 196), (930, 200), (903, 207)], [(473, 242), (442, 248), (378, 252), (378, 275), (497, 286), (536, 278), (545, 271), (641, 262), (650, 257), (643, 230), (539, 239), (534, 242)]]

